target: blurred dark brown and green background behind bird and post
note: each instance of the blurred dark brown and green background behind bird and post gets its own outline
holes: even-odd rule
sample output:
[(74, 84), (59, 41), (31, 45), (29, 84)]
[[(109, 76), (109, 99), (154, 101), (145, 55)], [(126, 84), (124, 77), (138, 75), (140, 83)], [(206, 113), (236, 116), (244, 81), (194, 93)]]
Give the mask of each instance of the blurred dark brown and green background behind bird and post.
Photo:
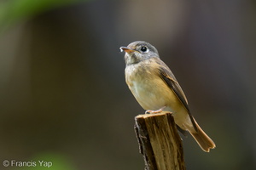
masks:
[(252, 0), (0, 1), (1, 169), (143, 169), (144, 111), (119, 52), (136, 40), (159, 50), (217, 144), (183, 138), (187, 169), (255, 169), (255, 17)]

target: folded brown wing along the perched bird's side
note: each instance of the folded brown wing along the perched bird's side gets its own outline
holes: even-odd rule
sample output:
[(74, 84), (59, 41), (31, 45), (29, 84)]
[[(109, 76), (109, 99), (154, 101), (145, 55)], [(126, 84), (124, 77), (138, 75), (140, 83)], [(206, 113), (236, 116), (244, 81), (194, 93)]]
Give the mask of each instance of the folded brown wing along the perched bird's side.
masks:
[(160, 65), (160, 67), (159, 67), (160, 68), (160, 77), (166, 82), (168, 87), (172, 89), (174, 94), (176, 94), (177, 99), (179, 99), (180, 102), (183, 104), (183, 106), (187, 109), (187, 111), (189, 113), (190, 120), (193, 124), (193, 127), (195, 128), (195, 131), (197, 131), (197, 127), (195, 125), (195, 120), (189, 111), (188, 100), (187, 100), (185, 94), (183, 93), (183, 89), (178, 84), (177, 79), (174, 77), (174, 75), (173, 75), (172, 71), (169, 69), (169, 67), (162, 60), (159, 60), (158, 62), (159, 62), (158, 64)]

